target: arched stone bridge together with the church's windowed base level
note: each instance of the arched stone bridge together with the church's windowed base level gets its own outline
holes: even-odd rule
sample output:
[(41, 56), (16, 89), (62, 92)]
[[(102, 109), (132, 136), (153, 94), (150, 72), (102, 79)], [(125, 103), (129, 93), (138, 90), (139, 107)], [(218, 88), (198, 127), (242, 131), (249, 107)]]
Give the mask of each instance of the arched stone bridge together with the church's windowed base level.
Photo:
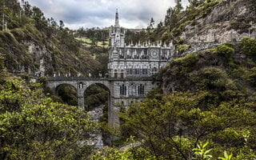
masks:
[(69, 84), (77, 90), (78, 106), (85, 110), (84, 93), (86, 89), (96, 84), (108, 90), (108, 124), (109, 126), (119, 126), (118, 111), (121, 107), (128, 108), (134, 102), (142, 101), (145, 95), (158, 82), (153, 78), (82, 78), (82, 77), (54, 77), (47, 78), (47, 86), (58, 95), (59, 86)]

